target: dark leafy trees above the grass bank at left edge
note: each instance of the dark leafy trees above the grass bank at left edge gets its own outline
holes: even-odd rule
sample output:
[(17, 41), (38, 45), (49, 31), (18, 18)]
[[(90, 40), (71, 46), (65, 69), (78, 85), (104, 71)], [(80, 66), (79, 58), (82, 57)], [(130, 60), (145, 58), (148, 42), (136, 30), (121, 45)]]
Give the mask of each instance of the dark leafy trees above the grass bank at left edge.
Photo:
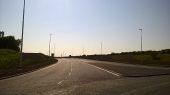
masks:
[(20, 51), (20, 40), (15, 39), (14, 36), (0, 37), (0, 49), (12, 49)]

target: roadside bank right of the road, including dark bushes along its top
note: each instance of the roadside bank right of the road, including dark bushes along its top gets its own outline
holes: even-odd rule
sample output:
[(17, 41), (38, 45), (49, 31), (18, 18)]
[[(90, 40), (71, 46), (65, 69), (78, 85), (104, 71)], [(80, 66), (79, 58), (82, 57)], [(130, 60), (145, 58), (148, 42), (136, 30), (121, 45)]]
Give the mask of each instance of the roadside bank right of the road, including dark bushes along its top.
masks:
[(108, 55), (83, 55), (79, 58), (111, 61), (129, 64), (170, 67), (170, 49), (160, 51), (140, 51), (111, 53)]

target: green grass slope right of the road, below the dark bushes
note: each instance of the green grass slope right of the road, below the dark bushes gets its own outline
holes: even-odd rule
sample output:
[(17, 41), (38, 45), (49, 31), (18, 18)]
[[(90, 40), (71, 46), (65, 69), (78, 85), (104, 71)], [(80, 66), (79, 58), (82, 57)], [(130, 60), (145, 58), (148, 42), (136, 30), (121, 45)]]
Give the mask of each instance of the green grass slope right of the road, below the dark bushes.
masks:
[(140, 64), (148, 66), (170, 67), (170, 54), (118, 54), (118, 55), (90, 55), (80, 58), (101, 61), (120, 62), (128, 64)]

